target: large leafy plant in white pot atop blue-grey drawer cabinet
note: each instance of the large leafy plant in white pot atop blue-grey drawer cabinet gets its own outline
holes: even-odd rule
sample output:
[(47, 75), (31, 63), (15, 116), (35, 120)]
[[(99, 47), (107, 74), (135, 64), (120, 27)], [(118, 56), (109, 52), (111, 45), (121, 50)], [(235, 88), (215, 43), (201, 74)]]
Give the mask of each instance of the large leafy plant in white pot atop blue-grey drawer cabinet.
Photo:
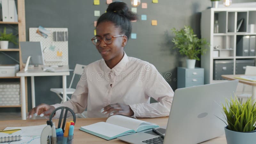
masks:
[(203, 55), (207, 50), (204, 46), (209, 43), (205, 39), (199, 39), (189, 26), (184, 26), (180, 30), (172, 28), (172, 32), (175, 34), (172, 39), (173, 48), (177, 48), (181, 55), (188, 56), (187, 68), (195, 68), (196, 60), (200, 60), (198, 54)]

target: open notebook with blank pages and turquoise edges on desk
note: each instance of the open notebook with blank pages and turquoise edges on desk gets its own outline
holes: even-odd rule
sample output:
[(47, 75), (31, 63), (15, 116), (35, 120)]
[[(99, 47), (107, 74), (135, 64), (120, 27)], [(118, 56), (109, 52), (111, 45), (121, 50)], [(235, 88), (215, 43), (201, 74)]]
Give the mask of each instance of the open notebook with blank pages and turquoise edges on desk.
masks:
[(112, 140), (123, 135), (141, 132), (156, 127), (159, 126), (138, 119), (115, 115), (110, 116), (106, 122), (81, 126), (79, 130), (91, 133), (106, 140)]

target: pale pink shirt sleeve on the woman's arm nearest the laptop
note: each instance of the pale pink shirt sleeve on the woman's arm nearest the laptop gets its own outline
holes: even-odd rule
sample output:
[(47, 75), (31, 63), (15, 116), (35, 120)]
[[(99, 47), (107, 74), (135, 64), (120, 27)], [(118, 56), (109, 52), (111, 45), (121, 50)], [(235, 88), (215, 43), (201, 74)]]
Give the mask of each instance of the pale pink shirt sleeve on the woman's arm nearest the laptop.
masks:
[(169, 116), (174, 92), (164, 77), (151, 64), (149, 79), (144, 81), (145, 95), (154, 98), (156, 103), (138, 103), (129, 105), (134, 118)]

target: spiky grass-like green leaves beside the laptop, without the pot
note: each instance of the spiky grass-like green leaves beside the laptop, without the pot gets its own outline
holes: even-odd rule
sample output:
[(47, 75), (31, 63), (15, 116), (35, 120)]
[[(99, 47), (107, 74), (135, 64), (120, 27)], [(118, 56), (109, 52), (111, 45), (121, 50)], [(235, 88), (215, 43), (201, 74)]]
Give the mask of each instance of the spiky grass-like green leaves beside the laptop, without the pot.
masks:
[(256, 103), (250, 97), (242, 103), (235, 97), (230, 101), (226, 99), (225, 106), (222, 104), (223, 115), (227, 121), (228, 129), (236, 132), (251, 132), (255, 130)]

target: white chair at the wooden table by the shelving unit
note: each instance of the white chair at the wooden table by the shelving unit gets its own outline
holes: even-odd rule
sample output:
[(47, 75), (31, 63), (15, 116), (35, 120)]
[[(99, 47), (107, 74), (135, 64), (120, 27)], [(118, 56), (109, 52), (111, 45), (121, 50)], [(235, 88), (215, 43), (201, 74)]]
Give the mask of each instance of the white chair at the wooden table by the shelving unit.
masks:
[[(246, 66), (245, 75), (255, 75), (256, 74), (256, 67), (253, 66)], [(238, 94), (237, 98), (242, 102), (243, 98), (249, 98), (252, 96), (252, 93), (244, 93), (246, 84), (243, 84), (242, 94)]]

